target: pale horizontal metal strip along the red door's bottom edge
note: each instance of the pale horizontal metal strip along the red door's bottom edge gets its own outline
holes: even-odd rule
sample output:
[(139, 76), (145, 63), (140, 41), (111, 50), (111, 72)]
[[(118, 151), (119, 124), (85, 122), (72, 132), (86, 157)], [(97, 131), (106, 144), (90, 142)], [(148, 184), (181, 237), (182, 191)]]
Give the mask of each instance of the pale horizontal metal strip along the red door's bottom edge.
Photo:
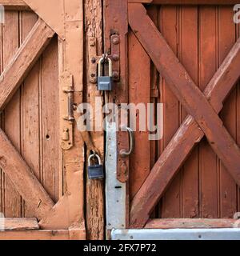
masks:
[(112, 240), (240, 240), (240, 229), (112, 230)]

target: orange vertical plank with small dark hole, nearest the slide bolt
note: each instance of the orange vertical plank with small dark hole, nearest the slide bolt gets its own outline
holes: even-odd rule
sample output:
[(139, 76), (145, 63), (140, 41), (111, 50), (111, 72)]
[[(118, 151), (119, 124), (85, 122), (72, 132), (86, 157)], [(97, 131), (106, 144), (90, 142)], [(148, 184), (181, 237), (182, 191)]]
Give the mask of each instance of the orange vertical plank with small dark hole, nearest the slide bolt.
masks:
[(41, 116), (42, 116), (42, 184), (56, 202), (59, 195), (59, 94), (58, 41), (54, 37), (42, 54)]

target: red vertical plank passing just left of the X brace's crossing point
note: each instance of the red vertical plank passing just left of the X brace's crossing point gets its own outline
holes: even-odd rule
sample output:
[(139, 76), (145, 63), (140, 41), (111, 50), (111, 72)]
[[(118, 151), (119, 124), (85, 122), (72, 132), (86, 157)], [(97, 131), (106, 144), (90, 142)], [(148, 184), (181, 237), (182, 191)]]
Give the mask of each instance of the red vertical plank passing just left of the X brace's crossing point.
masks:
[[(182, 6), (178, 58), (198, 85), (198, 7)], [(181, 121), (186, 111), (181, 106)], [(182, 168), (182, 218), (198, 218), (198, 147)]]

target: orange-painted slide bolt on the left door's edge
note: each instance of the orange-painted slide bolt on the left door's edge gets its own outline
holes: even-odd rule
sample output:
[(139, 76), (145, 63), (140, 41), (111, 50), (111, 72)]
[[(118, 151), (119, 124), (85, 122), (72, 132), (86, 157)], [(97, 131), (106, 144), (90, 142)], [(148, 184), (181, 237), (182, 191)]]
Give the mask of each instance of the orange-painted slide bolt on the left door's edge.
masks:
[(60, 77), (61, 97), (61, 146), (62, 150), (70, 150), (74, 146), (74, 84), (73, 75), (64, 72)]

